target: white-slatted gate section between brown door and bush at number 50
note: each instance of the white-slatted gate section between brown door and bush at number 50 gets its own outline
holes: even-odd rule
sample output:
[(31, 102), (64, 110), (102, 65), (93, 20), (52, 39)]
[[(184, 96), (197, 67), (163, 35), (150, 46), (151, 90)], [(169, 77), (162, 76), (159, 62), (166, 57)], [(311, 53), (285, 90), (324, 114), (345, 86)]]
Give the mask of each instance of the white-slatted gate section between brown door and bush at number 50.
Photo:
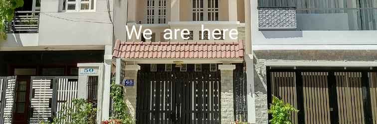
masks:
[(77, 76), (35, 76), (31, 81), (30, 124), (50, 122), (63, 105), (72, 107), (77, 98)]

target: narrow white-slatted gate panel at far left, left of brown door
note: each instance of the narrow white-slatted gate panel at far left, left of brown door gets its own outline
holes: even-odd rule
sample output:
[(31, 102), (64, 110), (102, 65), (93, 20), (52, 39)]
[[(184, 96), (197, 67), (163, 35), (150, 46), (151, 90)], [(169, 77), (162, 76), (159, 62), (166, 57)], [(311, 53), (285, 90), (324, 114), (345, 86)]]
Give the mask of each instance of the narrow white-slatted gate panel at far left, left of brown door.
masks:
[(3, 124), (12, 124), (13, 106), (14, 106), (14, 93), (16, 85), (16, 76), (10, 76), (6, 78), (6, 90), (5, 90), (5, 106), (3, 109)]

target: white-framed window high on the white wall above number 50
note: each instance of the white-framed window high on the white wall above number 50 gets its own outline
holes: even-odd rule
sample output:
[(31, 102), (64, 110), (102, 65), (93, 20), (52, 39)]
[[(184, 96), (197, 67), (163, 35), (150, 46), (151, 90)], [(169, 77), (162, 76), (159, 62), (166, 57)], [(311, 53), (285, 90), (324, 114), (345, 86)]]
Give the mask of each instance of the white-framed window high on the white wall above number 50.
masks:
[(66, 12), (93, 11), (95, 0), (62, 0), (61, 10)]

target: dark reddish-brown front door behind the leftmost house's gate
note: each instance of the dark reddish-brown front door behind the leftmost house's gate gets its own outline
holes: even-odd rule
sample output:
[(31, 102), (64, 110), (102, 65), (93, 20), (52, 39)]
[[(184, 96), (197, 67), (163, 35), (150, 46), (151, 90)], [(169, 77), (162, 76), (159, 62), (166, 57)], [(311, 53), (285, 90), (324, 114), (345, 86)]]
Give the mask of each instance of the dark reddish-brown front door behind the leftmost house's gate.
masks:
[(27, 124), (30, 76), (17, 76), (13, 124)]

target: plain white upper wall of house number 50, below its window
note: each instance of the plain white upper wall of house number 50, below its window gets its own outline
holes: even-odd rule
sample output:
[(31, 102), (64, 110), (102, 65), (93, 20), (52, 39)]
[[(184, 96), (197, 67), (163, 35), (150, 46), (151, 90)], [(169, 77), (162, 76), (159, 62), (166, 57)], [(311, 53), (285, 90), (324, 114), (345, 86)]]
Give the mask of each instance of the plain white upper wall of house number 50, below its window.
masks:
[[(95, 12), (59, 12), (59, 0), (41, 0), (39, 46), (111, 45), (112, 25), (106, 0), (95, 0)], [(110, 0), (113, 10), (113, 0)]]

